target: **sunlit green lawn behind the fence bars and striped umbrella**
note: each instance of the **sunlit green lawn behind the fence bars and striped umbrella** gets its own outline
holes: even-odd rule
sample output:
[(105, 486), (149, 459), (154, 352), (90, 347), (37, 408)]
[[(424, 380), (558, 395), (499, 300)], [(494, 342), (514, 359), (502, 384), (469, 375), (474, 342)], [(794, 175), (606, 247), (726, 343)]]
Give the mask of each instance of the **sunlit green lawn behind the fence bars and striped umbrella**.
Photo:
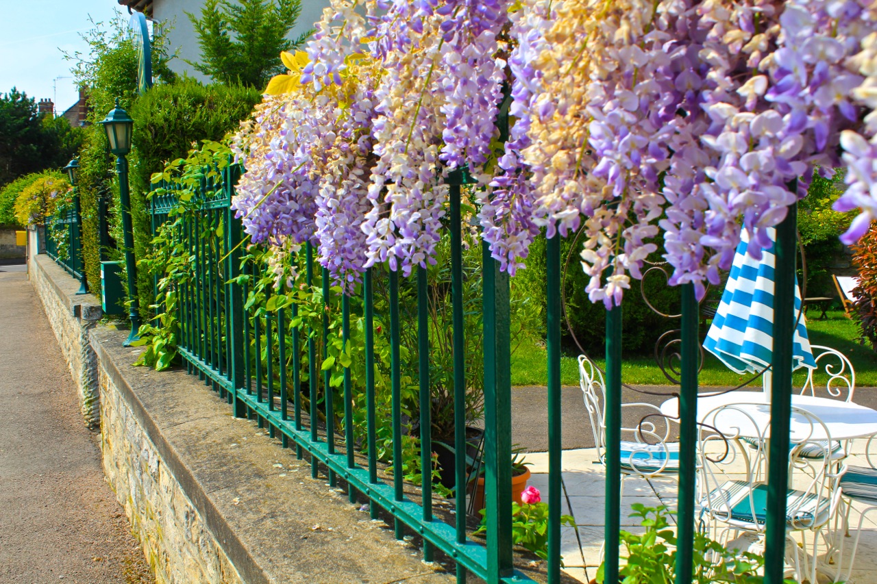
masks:
[[(811, 310), (813, 317), (817, 310)], [(807, 330), (810, 343), (825, 345), (844, 353), (856, 370), (856, 387), (877, 387), (877, 353), (859, 345), (853, 340), (858, 334), (855, 323), (844, 316), (842, 310), (829, 310), (825, 320), (809, 320)], [(706, 331), (701, 331), (706, 334)], [(699, 377), (702, 386), (736, 386), (751, 377), (736, 374), (724, 364), (706, 353), (706, 363)], [(591, 355), (600, 367), (605, 366), (601, 355)], [(545, 343), (541, 340), (524, 341), (511, 357), (512, 385), (545, 385), (547, 356)], [(632, 356), (624, 358), (622, 379), (625, 383), (642, 385), (669, 385), (660, 368), (651, 356)], [(565, 353), (560, 361), (560, 378), (564, 385), (577, 385), (579, 371), (574, 353)], [(800, 378), (800, 379), (799, 379)], [(802, 383), (802, 375), (796, 375), (797, 384)], [(818, 382), (818, 379), (817, 379)], [(755, 385), (760, 385), (757, 381)]]

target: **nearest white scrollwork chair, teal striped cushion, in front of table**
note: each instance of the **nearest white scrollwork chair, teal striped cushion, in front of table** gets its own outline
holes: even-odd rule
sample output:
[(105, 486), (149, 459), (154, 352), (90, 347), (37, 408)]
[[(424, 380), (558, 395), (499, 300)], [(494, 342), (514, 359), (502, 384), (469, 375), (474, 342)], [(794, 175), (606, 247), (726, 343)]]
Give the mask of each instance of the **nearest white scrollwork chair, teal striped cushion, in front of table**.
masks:
[[(762, 536), (766, 528), (767, 484), (759, 478), (766, 459), (767, 429), (756, 423), (749, 413), (750, 406), (755, 404), (734, 403), (712, 410), (703, 417), (699, 431), (699, 478), (704, 494), (698, 505), (700, 522), (723, 543), (742, 532)], [(825, 424), (806, 410), (792, 410), (798, 421), (803, 421), (805, 427), (809, 425), (809, 432), (804, 436), (799, 432), (792, 438), (789, 476), (793, 481), (786, 495), (787, 562), (797, 581), (815, 584), (817, 542), (820, 535), (825, 538), (838, 509), (843, 466), (838, 468), (831, 459), (831, 437)], [(744, 437), (745, 443), (741, 439)], [(812, 451), (814, 456), (800, 456), (804, 450)], [(795, 531), (801, 533), (800, 549), (791, 536)]]

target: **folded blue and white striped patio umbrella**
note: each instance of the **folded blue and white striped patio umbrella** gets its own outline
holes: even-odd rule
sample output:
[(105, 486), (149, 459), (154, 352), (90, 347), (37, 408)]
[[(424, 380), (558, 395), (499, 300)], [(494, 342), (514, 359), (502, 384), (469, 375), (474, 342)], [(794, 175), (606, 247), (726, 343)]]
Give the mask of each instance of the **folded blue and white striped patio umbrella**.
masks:
[[(776, 241), (775, 230), (770, 230)], [(746, 253), (749, 238), (737, 247), (722, 302), (709, 327), (703, 347), (739, 374), (759, 373), (774, 354), (774, 246), (755, 260)], [(795, 278), (795, 315), (801, 310), (801, 290)], [(793, 369), (816, 367), (804, 316), (795, 326)]]

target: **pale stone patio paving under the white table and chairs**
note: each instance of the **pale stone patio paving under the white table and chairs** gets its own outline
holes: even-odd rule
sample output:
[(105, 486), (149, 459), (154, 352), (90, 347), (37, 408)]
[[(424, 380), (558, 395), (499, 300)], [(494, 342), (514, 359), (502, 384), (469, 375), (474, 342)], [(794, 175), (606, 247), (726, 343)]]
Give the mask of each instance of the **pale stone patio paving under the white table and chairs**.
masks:
[[(845, 462), (848, 466), (868, 466), (864, 457), (866, 441), (855, 440), (852, 444), (852, 455)], [(873, 446), (872, 446), (873, 448)], [(531, 463), (531, 479), (529, 484), (542, 492), (542, 500), (547, 502), (548, 494), (548, 453), (531, 452), (526, 456)], [(605, 471), (597, 461), (595, 448), (581, 448), (563, 451), (561, 462), (564, 502), (561, 512), (575, 518), (577, 529), (561, 527), (561, 553), (566, 572), (582, 582), (588, 582), (596, 576), (600, 564), (600, 552), (603, 542), (603, 489)], [(743, 472), (741, 467), (740, 472)], [(628, 515), (631, 504), (639, 502), (646, 506), (656, 507), (667, 505), (672, 510), (677, 507), (677, 484), (674, 480), (660, 479), (646, 481), (631, 477), (624, 481), (622, 496), (622, 529), (636, 531), (638, 520)], [(859, 522), (857, 503), (853, 503), (850, 517), (854, 529)], [(858, 505), (861, 508), (861, 505)], [(862, 538), (859, 551), (856, 553), (856, 565), (852, 570), (850, 582), (855, 584), (877, 584), (877, 511), (866, 516), (862, 526)], [(853, 532), (854, 535), (854, 532)], [(808, 538), (811, 542), (812, 539)], [(845, 540), (844, 571), (848, 566), (852, 552), (852, 538)], [(819, 547), (819, 555), (823, 556), (825, 545)], [(833, 581), (836, 566), (820, 566), (820, 582)]]

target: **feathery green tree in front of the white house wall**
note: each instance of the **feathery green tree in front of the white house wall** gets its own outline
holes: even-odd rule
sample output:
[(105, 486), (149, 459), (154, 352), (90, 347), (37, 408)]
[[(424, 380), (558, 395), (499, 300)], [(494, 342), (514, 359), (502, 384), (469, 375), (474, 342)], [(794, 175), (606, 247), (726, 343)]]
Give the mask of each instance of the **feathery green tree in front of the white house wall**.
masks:
[(313, 31), (286, 36), (302, 11), (301, 0), (207, 0), (201, 18), (186, 12), (195, 26), (201, 62), (186, 61), (214, 81), (265, 89), (284, 72), (280, 53), (303, 45)]

